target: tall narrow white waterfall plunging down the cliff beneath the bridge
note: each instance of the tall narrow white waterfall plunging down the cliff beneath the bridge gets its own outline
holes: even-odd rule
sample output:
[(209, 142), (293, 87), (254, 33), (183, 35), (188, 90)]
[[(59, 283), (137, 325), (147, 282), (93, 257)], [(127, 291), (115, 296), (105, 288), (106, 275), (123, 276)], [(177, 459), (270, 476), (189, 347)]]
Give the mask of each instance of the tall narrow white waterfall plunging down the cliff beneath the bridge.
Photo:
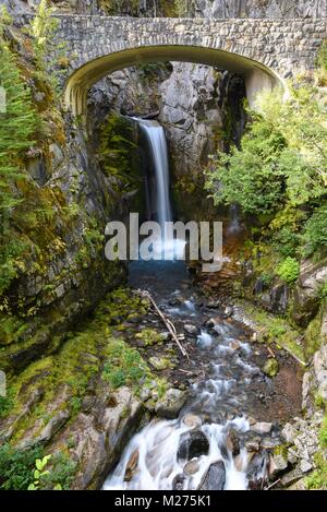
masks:
[(156, 211), (158, 223), (164, 229), (165, 222), (172, 219), (169, 197), (169, 165), (166, 136), (158, 121), (137, 119), (137, 122), (146, 136), (149, 151), (154, 162), (156, 177)]

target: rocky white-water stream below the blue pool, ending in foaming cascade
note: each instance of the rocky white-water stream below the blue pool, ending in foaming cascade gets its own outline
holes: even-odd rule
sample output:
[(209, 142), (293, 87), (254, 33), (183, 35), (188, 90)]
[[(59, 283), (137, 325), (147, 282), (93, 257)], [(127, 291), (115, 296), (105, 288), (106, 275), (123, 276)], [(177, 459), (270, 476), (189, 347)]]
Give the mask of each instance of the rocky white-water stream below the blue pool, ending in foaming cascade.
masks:
[[(223, 319), (213, 328), (204, 326), (207, 318), (192, 296), (179, 307), (164, 299), (160, 307), (175, 324), (192, 318), (198, 326), (194, 344), (209, 361), (206, 374), (189, 389), (178, 419), (155, 418), (133, 437), (104, 489), (246, 489), (249, 479), (261, 481), (267, 471), (266, 453), (250, 454), (244, 448), (252, 428), (249, 388), (261, 373), (251, 360), (251, 345), (242, 341), (239, 328)], [(240, 440), (238, 449), (231, 443), (231, 431)], [(185, 443), (192, 448), (183, 449)], [(278, 443), (275, 433), (269, 443)]]

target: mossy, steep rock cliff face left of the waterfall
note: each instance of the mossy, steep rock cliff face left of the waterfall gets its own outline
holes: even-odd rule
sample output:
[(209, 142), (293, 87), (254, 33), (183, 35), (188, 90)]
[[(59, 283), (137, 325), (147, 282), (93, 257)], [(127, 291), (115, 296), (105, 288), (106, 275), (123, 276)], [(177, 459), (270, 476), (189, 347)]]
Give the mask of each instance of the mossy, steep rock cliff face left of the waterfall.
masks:
[(8, 234), (24, 249), (8, 260), (11, 271), (4, 267), (8, 282), (0, 288), (0, 367), (12, 373), (56, 352), (80, 315), (124, 281), (124, 266), (105, 259), (104, 233), (113, 215), (124, 215), (128, 200), (101, 170), (92, 140), (34, 74), (27, 36), (13, 28), (7, 36), (20, 48), (22, 72), (33, 76), (28, 86), (41, 123), (16, 183), (23, 202)]

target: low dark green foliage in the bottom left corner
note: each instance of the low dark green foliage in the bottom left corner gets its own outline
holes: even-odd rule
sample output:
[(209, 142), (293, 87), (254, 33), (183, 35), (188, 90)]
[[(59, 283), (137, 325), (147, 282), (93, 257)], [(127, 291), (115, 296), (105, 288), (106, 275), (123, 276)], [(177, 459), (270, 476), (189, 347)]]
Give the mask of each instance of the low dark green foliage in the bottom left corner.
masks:
[(35, 460), (43, 448), (17, 450), (9, 443), (0, 446), (0, 489), (26, 490), (33, 484)]

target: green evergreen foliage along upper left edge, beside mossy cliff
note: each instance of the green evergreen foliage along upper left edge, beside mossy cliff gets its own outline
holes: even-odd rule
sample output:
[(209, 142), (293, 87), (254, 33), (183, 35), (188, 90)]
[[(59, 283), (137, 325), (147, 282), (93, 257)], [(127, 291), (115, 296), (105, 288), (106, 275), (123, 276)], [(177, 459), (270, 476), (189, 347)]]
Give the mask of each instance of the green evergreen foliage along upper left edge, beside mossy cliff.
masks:
[[(2, 19), (3, 23), (3, 19)], [(1, 27), (1, 24), (0, 24)], [(0, 112), (0, 295), (16, 277), (24, 245), (12, 238), (10, 217), (22, 202), (16, 189), (25, 178), (23, 158), (34, 143), (39, 118), (32, 104), (17, 60), (1, 35), (0, 86), (5, 91), (5, 111)]]

